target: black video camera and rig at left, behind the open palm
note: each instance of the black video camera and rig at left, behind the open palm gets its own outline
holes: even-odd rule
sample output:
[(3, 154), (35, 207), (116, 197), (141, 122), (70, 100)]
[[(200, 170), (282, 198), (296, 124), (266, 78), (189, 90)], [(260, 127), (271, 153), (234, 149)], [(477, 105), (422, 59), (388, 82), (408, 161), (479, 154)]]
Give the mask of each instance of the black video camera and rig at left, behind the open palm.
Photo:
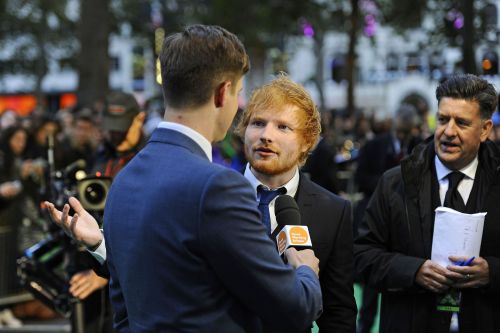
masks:
[[(83, 207), (99, 220), (111, 178), (87, 177), (83, 171), (86, 167), (84, 160), (77, 160), (63, 170), (55, 171), (53, 138), (49, 137), (48, 141), (48, 186), (45, 198), (61, 209), (70, 196), (77, 197)], [(44, 213), (48, 236), (26, 249), (18, 259), (18, 276), (21, 284), (35, 298), (70, 319), (71, 332), (83, 333), (83, 305), (69, 293), (69, 281), (79, 270), (78, 258), (83, 249), (50, 222), (46, 211)]]

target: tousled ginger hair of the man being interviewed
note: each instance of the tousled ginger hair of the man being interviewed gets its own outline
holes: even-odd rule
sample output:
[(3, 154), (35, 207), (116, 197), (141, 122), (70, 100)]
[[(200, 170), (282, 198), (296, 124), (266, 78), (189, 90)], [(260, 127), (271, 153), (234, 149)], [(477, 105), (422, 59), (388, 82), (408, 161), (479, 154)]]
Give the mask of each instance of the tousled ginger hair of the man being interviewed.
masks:
[(308, 147), (300, 156), (299, 162), (300, 165), (303, 165), (307, 155), (319, 139), (321, 133), (320, 114), (311, 95), (304, 87), (289, 79), (285, 74), (280, 74), (268, 84), (254, 90), (235, 131), (243, 138), (250, 118), (257, 110), (270, 107), (281, 108), (285, 105), (295, 106), (297, 112), (301, 113), (299, 131)]

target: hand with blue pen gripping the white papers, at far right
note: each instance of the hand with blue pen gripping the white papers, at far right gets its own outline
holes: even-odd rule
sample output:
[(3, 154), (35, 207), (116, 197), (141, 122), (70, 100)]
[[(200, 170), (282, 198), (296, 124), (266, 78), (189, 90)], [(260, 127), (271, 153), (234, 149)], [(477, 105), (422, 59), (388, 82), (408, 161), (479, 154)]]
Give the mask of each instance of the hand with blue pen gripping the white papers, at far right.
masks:
[[(449, 259), (453, 262), (460, 262), (468, 258), (451, 256)], [(482, 257), (475, 258), (469, 266), (450, 265), (447, 268), (460, 274), (460, 279), (453, 284), (454, 288), (479, 288), (490, 283), (490, 268), (488, 262)]]

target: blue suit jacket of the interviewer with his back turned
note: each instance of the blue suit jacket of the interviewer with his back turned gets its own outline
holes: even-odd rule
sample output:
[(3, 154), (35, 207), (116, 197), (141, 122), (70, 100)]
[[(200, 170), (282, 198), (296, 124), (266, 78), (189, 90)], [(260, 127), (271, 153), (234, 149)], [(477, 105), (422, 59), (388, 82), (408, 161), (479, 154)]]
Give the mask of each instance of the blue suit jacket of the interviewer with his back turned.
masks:
[(104, 234), (119, 332), (304, 329), (321, 312), (306, 266), (284, 265), (248, 181), (157, 129), (119, 173)]

